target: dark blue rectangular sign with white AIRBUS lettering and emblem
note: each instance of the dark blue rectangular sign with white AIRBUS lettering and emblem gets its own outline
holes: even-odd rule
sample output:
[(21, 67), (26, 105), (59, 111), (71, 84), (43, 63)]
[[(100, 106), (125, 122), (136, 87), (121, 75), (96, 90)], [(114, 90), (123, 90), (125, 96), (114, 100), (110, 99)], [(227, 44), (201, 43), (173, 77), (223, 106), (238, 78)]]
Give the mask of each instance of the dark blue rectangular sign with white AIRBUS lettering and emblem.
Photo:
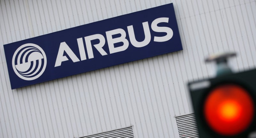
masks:
[(173, 4), (4, 45), (12, 89), (179, 50)]

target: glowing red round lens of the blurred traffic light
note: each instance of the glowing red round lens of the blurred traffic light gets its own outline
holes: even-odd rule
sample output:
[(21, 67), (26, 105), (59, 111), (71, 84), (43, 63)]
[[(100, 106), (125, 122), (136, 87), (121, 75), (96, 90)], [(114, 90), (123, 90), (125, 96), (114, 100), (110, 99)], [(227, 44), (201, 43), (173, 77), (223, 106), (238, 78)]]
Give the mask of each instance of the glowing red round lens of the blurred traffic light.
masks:
[(206, 97), (203, 109), (206, 123), (223, 136), (242, 133), (250, 126), (255, 112), (248, 91), (235, 84), (214, 88)]

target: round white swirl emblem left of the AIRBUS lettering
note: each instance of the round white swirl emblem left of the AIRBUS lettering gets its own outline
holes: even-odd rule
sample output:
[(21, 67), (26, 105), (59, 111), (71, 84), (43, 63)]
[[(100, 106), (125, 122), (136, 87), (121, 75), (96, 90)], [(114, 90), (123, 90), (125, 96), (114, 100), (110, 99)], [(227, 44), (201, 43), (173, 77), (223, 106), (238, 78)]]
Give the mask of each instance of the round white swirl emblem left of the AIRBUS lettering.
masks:
[(36, 44), (21, 45), (12, 57), (12, 68), (17, 76), (31, 81), (40, 77), (46, 68), (44, 50)]

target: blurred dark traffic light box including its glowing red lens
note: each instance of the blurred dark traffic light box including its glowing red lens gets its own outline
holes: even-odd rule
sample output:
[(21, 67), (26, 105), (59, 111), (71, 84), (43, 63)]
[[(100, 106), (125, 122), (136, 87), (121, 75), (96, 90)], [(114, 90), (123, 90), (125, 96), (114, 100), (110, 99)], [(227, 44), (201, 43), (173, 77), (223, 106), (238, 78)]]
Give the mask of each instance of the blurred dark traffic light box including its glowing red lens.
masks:
[(201, 138), (247, 138), (256, 131), (256, 69), (188, 83)]

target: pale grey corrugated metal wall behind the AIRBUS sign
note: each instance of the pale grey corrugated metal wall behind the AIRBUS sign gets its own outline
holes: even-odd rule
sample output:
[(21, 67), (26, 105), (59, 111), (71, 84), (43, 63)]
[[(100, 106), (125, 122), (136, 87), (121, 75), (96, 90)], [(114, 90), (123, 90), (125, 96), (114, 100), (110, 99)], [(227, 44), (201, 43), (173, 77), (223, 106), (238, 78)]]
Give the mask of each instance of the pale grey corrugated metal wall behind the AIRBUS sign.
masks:
[[(183, 51), (11, 90), (3, 44), (173, 3)], [(136, 138), (179, 137), (193, 112), (187, 81), (213, 76), (203, 59), (237, 51), (256, 65), (255, 0), (0, 0), (0, 137), (73, 138), (133, 125)]]

